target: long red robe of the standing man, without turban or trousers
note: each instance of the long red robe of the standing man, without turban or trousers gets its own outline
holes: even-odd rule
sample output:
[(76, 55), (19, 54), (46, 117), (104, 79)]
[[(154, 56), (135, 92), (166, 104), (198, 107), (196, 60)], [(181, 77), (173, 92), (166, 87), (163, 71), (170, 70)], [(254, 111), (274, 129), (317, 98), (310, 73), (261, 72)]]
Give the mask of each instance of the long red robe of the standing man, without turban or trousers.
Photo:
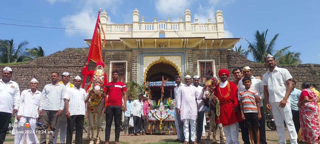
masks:
[(233, 111), (233, 108), (239, 108), (237, 93), (236, 84), (230, 81), (224, 88), (218, 85), (213, 92), (220, 101), (220, 116), (217, 116), (217, 124), (221, 123), (223, 126), (227, 126), (242, 121), (240, 109), (236, 113)]

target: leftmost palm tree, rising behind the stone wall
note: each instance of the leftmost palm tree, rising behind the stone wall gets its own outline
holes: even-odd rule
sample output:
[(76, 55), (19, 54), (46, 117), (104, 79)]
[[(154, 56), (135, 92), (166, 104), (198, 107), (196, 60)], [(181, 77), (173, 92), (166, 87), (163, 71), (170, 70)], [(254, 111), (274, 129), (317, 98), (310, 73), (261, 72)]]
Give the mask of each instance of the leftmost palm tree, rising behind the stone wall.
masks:
[(31, 60), (26, 55), (25, 49), (28, 47), (29, 42), (23, 41), (18, 46), (11, 40), (0, 40), (0, 62), (12, 63)]

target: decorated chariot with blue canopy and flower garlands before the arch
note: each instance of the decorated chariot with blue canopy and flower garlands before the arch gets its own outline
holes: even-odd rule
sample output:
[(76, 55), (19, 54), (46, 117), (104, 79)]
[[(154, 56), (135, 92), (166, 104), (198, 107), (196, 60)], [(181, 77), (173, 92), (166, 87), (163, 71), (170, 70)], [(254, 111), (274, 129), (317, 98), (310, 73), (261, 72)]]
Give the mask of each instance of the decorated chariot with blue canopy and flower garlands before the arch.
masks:
[(145, 88), (148, 95), (149, 113), (146, 133), (175, 133), (174, 114), (174, 81), (147, 82)]

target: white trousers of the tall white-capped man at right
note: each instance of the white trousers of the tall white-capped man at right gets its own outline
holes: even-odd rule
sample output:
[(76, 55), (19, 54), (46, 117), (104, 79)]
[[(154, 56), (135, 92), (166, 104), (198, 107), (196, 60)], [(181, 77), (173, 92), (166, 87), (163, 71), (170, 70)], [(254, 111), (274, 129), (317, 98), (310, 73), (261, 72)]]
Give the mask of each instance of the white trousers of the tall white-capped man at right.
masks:
[(270, 103), (271, 110), (273, 117), (275, 119), (275, 124), (277, 128), (277, 133), (279, 137), (279, 144), (285, 144), (285, 130), (284, 130), (284, 123), (287, 124), (287, 129), (289, 132), (289, 139), (291, 144), (297, 144), (297, 132), (295, 130), (293, 120), (292, 120), (292, 113), (291, 113), (291, 106), (290, 102), (287, 102), (284, 108), (279, 107), (279, 102)]

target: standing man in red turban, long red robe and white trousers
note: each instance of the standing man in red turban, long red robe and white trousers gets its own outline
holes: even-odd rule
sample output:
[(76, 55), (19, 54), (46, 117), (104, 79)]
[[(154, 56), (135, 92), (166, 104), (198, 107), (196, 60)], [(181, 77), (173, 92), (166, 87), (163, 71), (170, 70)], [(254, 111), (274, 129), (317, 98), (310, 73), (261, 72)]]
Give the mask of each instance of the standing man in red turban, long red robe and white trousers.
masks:
[(238, 89), (236, 84), (227, 80), (229, 77), (227, 69), (220, 69), (218, 75), (221, 83), (213, 93), (220, 101), (220, 116), (217, 117), (216, 123), (223, 125), (228, 143), (239, 144), (238, 122), (242, 119), (238, 104)]

